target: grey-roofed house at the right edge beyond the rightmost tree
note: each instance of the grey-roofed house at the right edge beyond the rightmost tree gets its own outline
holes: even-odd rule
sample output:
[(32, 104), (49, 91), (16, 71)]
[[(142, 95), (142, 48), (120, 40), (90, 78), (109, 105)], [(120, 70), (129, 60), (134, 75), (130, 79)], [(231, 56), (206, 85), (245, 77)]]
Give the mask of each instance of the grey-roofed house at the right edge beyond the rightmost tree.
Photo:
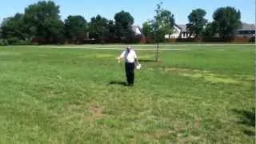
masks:
[(255, 25), (242, 23), (242, 28), (237, 30), (237, 38), (252, 38), (255, 36)]

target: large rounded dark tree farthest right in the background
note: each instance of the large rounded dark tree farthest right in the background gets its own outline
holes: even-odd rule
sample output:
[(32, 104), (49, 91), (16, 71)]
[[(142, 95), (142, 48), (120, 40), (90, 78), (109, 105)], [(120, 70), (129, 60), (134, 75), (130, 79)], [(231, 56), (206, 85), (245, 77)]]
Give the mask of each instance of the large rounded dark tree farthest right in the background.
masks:
[(233, 38), (235, 31), (242, 26), (240, 10), (235, 10), (234, 7), (218, 8), (213, 18), (221, 38)]

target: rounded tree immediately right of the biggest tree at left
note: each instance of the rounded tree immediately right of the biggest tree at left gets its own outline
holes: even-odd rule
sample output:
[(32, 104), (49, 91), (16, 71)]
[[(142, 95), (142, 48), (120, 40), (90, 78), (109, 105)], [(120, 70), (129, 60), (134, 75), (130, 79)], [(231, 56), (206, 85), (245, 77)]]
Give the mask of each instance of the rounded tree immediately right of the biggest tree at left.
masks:
[(66, 37), (72, 42), (86, 38), (87, 22), (81, 15), (68, 16), (65, 20)]

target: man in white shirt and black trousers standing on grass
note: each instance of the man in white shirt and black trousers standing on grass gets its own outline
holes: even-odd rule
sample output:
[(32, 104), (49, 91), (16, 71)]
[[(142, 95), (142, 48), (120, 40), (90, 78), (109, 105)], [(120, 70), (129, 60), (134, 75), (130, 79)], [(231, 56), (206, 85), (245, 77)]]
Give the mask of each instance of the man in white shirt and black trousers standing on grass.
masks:
[(118, 57), (118, 62), (120, 62), (122, 58), (125, 58), (126, 61), (126, 79), (128, 86), (134, 86), (135, 62), (138, 64), (137, 54), (132, 50), (131, 46), (127, 46), (126, 50)]

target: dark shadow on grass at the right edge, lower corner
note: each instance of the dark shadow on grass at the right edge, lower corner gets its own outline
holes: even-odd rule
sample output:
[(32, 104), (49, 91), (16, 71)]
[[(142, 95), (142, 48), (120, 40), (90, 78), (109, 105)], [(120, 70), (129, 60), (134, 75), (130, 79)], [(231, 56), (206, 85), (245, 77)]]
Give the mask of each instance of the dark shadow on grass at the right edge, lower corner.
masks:
[[(255, 108), (252, 108), (251, 110), (233, 110), (235, 113), (240, 115), (241, 120), (238, 122), (240, 124), (255, 127)], [(251, 130), (244, 130), (244, 134), (254, 136), (255, 131)]]

